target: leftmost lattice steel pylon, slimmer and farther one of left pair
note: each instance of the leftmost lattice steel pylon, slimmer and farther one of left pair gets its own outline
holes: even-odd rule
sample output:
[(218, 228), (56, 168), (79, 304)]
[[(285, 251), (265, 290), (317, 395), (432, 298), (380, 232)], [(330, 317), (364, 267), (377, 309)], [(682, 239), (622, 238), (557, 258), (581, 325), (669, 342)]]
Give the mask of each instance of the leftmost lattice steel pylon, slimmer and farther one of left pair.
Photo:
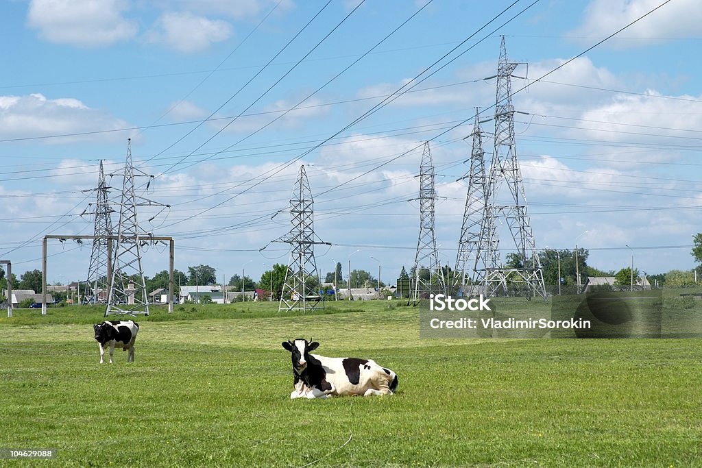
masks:
[(110, 207), (109, 192), (110, 188), (105, 181), (105, 170), (102, 167), (102, 159), (100, 159), (100, 173), (98, 174), (98, 186), (91, 190), (95, 192), (95, 203), (90, 203), (84, 211), (84, 215), (91, 215), (95, 222), (93, 230), (93, 253), (90, 258), (90, 267), (88, 267), (88, 281), (82, 297), (84, 304), (95, 304), (100, 302), (107, 294), (110, 288), (109, 278), (110, 272), (108, 262), (112, 259), (109, 249), (112, 247), (110, 236), (112, 236), (112, 208)]

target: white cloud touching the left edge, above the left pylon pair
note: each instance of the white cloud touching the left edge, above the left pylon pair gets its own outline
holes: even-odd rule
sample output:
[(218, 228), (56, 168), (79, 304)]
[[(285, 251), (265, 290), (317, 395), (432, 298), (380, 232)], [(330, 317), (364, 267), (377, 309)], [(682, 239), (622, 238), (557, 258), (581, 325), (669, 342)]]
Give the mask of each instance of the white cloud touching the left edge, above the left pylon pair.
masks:
[[(32, 138), (127, 127), (125, 121), (91, 109), (73, 98), (48, 99), (41, 94), (0, 96), (0, 138)], [(65, 143), (77, 138), (124, 140), (124, 137), (124, 133), (110, 132), (46, 141)]]

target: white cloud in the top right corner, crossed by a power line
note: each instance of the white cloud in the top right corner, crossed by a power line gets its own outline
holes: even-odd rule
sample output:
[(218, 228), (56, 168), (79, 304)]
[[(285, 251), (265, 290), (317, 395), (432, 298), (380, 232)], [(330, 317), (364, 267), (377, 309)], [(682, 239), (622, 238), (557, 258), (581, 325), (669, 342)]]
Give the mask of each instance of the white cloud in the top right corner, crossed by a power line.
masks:
[[(660, 5), (660, 0), (592, 0), (582, 24), (569, 35), (604, 38)], [(608, 46), (630, 48), (682, 37), (701, 37), (702, 3), (676, 0), (607, 41)], [(643, 40), (643, 41), (642, 41)]]

